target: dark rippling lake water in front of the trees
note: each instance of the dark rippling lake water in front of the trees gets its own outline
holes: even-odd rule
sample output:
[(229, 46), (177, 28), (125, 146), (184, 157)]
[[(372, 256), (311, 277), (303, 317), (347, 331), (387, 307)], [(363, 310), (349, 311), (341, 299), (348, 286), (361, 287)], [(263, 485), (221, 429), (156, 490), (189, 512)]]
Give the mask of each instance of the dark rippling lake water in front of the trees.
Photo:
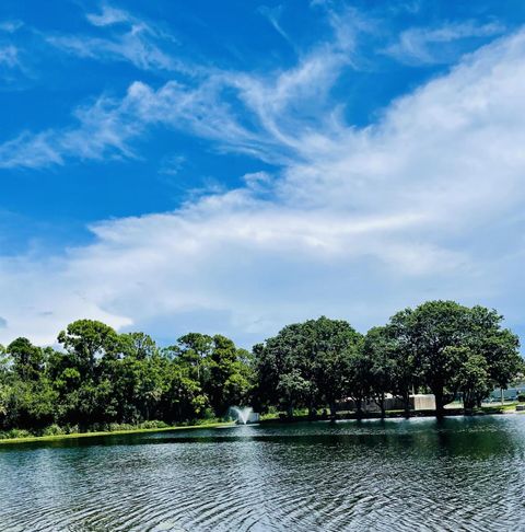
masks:
[(1, 531), (525, 530), (525, 416), (0, 448)]

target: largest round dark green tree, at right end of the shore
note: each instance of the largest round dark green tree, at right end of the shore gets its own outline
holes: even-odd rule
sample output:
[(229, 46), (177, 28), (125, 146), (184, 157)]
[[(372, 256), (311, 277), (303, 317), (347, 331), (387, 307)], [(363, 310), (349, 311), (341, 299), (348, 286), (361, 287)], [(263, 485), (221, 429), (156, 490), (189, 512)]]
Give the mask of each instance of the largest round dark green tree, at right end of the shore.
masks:
[(412, 384), (432, 391), (439, 416), (459, 391), (468, 403), (472, 396), (479, 403), (489, 388), (506, 386), (523, 367), (517, 336), (501, 328), (502, 320), (495, 311), (454, 301), (429, 301), (390, 320), (395, 342), (412, 359)]

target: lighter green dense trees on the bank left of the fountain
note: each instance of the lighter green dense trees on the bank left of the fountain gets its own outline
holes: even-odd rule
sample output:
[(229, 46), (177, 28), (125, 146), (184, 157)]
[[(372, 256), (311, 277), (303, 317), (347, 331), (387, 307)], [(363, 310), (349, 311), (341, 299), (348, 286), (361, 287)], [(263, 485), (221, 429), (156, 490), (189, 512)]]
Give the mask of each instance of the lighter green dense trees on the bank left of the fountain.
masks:
[(252, 355), (224, 336), (197, 333), (159, 349), (143, 333), (117, 334), (79, 320), (58, 335), (63, 350), (18, 338), (0, 359), (0, 429), (48, 436), (165, 427), (214, 419), (248, 402)]

